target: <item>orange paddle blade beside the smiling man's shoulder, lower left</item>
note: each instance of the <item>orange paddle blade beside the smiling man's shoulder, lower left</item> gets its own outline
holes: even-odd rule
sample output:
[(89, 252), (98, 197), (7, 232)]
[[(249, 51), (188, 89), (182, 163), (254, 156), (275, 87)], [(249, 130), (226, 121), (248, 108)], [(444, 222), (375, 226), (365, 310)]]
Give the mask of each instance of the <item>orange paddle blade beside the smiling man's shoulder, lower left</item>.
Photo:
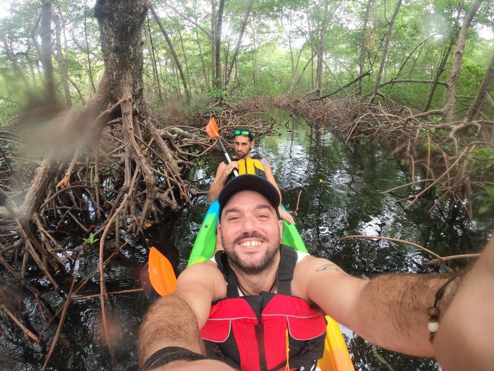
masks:
[(166, 257), (154, 246), (149, 250), (149, 280), (153, 288), (161, 296), (166, 296), (175, 291), (177, 278), (173, 267)]

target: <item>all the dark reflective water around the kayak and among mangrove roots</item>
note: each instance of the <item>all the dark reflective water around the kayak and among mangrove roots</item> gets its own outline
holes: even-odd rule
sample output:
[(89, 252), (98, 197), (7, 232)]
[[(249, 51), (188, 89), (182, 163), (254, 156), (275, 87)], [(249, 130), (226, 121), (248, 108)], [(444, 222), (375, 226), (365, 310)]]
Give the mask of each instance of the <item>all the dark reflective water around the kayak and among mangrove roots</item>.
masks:
[[(302, 119), (273, 111), (282, 122), (288, 121), (287, 131), (279, 129), (279, 136), (258, 140), (254, 153), (268, 158), (283, 194), (288, 211), (296, 206), (302, 190), (297, 228), (312, 255), (328, 258), (348, 273), (373, 276), (392, 272), (431, 272), (437, 270), (427, 263), (426, 253), (408, 245), (384, 240), (338, 238), (351, 234), (372, 234), (401, 238), (427, 247), (446, 256), (478, 251), (488, 233), (483, 231), (489, 221), (470, 222), (452, 226), (436, 211), (432, 218), (423, 214), (428, 200), (420, 200), (407, 211), (396, 203), (396, 197), (383, 194), (386, 189), (409, 182), (407, 174), (396, 161), (377, 144), (351, 143), (346, 150), (335, 143), (330, 134), (309, 138), (310, 129)], [(220, 158), (202, 159), (191, 173), (191, 180), (203, 190), (212, 183)], [(418, 189), (418, 188), (417, 188)], [(397, 192), (407, 195), (404, 190)], [(182, 214), (168, 216), (167, 223), (146, 230), (145, 238), (133, 238), (120, 255), (109, 264), (106, 274), (108, 291), (140, 287), (139, 272), (147, 258), (147, 249), (156, 245), (166, 251), (177, 272), (185, 268), (202, 219), (209, 206), (208, 197), (194, 200), (195, 206)], [(460, 228), (461, 227), (461, 228)], [(123, 236), (125, 239), (134, 236)], [(458, 264), (458, 263), (453, 263)], [(80, 277), (97, 268), (96, 253), (90, 252), (81, 261)], [(444, 270), (444, 268), (442, 268)], [(4, 273), (2, 277), (6, 277)], [(46, 282), (41, 284), (47, 285)], [(66, 282), (65, 291), (70, 281)], [(15, 288), (13, 288), (15, 290)], [(92, 278), (84, 295), (99, 292), (98, 276)], [(24, 297), (30, 326), (41, 332), (44, 322), (38, 314), (36, 301)], [(45, 295), (54, 310), (63, 305), (63, 299), (51, 292)], [(432, 300), (432, 298), (431, 298)], [(137, 358), (135, 339), (140, 320), (148, 308), (141, 293), (110, 297), (109, 317), (115, 318), (115, 366), (108, 357), (102, 334), (99, 298), (72, 302), (61, 331), (60, 339), (46, 370), (135, 370)], [(51, 326), (43, 338), (43, 346), (26, 343), (22, 333), (1, 313), (1, 325), (12, 344), (0, 337), (1, 370), (40, 370), (50, 341), (55, 332)], [(58, 323), (58, 319), (55, 321)], [(388, 370), (373, 354), (372, 347), (349, 329), (343, 329), (356, 370)], [(377, 348), (393, 370), (439, 370), (433, 360), (403, 356)]]

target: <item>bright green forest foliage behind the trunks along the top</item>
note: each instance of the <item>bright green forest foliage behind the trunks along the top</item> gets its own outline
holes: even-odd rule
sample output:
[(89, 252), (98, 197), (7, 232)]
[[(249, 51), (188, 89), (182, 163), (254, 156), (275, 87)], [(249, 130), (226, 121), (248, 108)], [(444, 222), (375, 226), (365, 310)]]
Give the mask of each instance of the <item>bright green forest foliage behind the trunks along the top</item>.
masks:
[[(471, 3), (472, 0), (416, 0), (402, 3), (395, 21), (382, 82), (392, 78), (434, 79), (445, 50), (456, 41), (462, 18)], [(467, 34), (458, 95), (475, 95), (492, 56), (493, 41), (478, 36), (478, 30), (490, 27), (493, 21), (493, 10), (488, 3), (489, 1), (484, 1)], [(40, 4), (40, 0), (12, 3), (15, 10), (10, 16), (0, 20), (0, 30), (5, 34), (7, 45), (15, 53), (17, 63), (29, 80), (31, 88), (42, 86), (44, 79), (38, 62), (39, 45), (34, 44), (35, 40), (39, 43), (40, 37), (40, 28), (35, 27), (36, 24), (33, 23), (40, 14)], [(229, 101), (241, 96), (286, 94), (290, 90), (292, 79), (297, 82), (291, 92), (292, 96), (302, 96), (313, 89), (318, 57), (315, 56), (308, 64), (307, 61), (314, 55), (314, 48), (317, 47), (324, 4), (324, 0), (254, 2), (229, 86), (214, 89), (211, 73), (211, 23), (207, 14), (210, 3), (196, 0), (155, 2), (183, 66), (187, 84), (193, 94), (192, 105), (198, 107), (205, 107), (210, 101)], [(373, 2), (365, 35), (364, 70), (372, 67), (374, 72), (363, 81), (364, 94), (370, 93), (375, 83), (384, 36), (394, 9), (393, 4), (385, 3), (384, 0)], [(229, 1), (225, 6), (220, 53), (222, 81), (237, 44), (246, 5), (246, 1)], [(359, 73), (366, 5), (367, 1), (329, 1), (323, 93), (337, 89), (339, 84), (344, 85)], [(71, 97), (73, 104), (80, 106), (82, 101), (88, 101), (94, 94), (89, 79), (88, 61), (91, 62), (91, 76), (95, 88), (104, 71), (99, 25), (94, 18), (93, 9), (82, 5), (81, 2), (54, 2), (54, 12), (60, 16), (64, 27), (62, 44), (71, 78)], [(144, 39), (143, 46), (145, 99), (154, 109), (160, 109), (163, 102), (159, 92), (163, 100), (175, 101), (181, 99), (184, 89), (162, 31), (152, 17), (145, 20), (143, 32), (148, 36), (148, 40)], [(415, 46), (432, 34), (435, 36), (414, 50)], [(148, 49), (148, 41), (152, 50)], [(453, 55), (454, 47), (446, 71), (440, 77), (442, 81), (448, 81)], [(153, 68), (153, 57), (156, 59), (157, 76)], [(56, 85), (62, 98), (63, 85), (55, 60), (54, 69)], [(24, 100), (22, 91), (26, 87), (14, 72), (12, 61), (4, 49), (0, 50), (0, 75), (0, 120), (1, 123), (5, 123), (12, 121), (12, 117), (18, 111), (18, 103)], [(347, 93), (355, 87), (356, 84), (347, 88)], [(398, 83), (394, 86), (386, 85), (382, 92), (399, 103), (420, 110), (424, 108), (429, 89), (430, 84)], [(431, 108), (443, 106), (444, 92), (444, 86), (437, 87)], [(338, 96), (344, 96), (344, 93), (334, 97)], [(470, 101), (466, 100), (467, 103)], [(458, 108), (463, 107), (458, 104), (455, 109)]]

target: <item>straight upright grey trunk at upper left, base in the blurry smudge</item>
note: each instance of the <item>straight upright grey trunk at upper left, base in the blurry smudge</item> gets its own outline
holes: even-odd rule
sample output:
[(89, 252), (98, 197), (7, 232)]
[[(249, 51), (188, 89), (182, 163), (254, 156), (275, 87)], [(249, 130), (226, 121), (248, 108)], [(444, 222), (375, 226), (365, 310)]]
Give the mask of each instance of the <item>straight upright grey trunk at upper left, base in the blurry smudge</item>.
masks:
[(41, 4), (41, 64), (44, 72), (44, 89), (46, 101), (53, 104), (56, 101), (55, 78), (51, 60), (51, 0), (43, 0)]

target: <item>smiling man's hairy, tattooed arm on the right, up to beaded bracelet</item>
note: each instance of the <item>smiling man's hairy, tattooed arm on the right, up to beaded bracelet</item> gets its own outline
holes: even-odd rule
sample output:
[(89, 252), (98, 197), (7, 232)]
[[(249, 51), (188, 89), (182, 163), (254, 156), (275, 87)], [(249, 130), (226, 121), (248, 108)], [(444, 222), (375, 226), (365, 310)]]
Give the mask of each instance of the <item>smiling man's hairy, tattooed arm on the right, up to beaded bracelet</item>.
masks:
[[(309, 298), (372, 344), (410, 355), (435, 355), (426, 310), (451, 275), (389, 274), (361, 279), (325, 259), (311, 262), (306, 274)], [(445, 311), (451, 302), (457, 281), (446, 287), (440, 310)]]

